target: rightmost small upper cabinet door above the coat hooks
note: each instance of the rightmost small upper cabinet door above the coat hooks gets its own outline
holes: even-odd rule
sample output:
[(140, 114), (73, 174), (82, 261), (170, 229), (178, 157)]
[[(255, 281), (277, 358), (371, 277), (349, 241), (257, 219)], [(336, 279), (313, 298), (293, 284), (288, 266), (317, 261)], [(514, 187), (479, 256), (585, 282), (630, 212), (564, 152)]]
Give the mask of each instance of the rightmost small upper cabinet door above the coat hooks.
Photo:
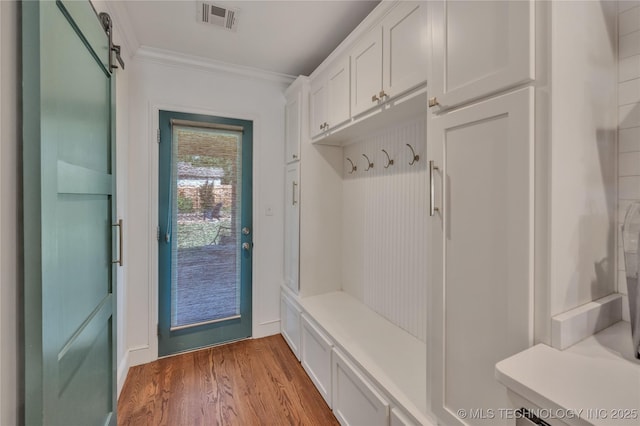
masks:
[(382, 22), (384, 93), (394, 97), (427, 80), (427, 14), (424, 2), (400, 2)]

